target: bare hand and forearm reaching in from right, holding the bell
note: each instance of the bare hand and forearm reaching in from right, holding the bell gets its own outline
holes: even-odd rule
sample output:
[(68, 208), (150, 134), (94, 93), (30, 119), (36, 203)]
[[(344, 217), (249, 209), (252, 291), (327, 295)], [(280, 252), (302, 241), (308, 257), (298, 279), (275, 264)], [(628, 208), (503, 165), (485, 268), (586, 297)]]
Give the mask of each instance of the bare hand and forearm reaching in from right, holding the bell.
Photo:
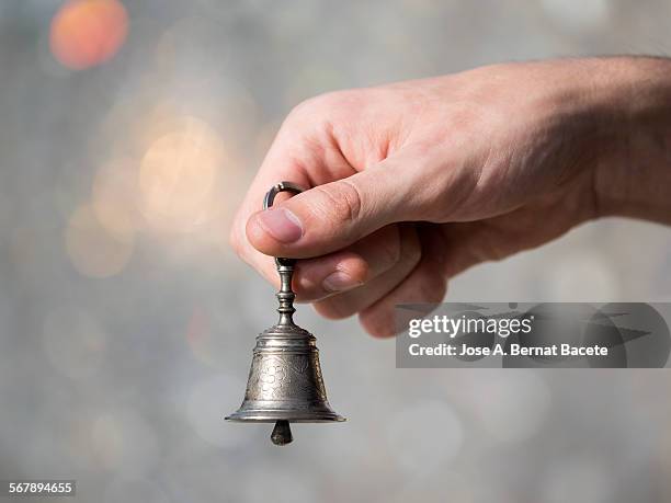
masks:
[[(329, 93), (286, 118), (231, 244), (299, 300), (394, 334), (394, 306), (439, 302), (485, 261), (604, 216), (671, 225), (671, 62), (497, 65)], [(311, 190), (259, 212), (280, 181)]]

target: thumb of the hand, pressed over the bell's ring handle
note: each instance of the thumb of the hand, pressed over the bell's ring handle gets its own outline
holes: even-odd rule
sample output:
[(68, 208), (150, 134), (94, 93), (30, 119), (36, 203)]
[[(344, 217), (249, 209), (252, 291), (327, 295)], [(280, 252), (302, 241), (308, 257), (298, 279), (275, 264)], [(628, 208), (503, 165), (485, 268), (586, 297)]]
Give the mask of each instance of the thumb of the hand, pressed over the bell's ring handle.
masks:
[(319, 256), (388, 224), (412, 220), (411, 170), (401, 173), (389, 161), (255, 213), (247, 224), (249, 242), (268, 255)]

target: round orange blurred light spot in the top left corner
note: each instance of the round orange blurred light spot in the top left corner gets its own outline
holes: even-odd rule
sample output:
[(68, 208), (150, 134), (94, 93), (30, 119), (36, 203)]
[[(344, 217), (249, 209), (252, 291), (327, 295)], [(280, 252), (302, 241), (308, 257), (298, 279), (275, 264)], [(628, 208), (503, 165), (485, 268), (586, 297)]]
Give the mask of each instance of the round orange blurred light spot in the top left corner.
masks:
[(128, 14), (118, 0), (69, 0), (52, 21), (54, 57), (82, 70), (112, 58), (128, 33)]

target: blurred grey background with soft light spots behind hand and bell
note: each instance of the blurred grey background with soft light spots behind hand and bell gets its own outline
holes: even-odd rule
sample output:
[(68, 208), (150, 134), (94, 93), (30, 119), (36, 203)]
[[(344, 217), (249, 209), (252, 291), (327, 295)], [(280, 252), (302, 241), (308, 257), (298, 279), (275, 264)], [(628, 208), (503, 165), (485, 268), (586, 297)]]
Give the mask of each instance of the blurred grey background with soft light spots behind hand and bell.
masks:
[[(664, 54), (670, 19), (668, 0), (3, 0), (0, 479), (77, 479), (96, 503), (671, 501), (668, 370), (396, 369), (393, 341), (303, 306), (349, 422), (277, 448), (223, 420), (275, 321), (228, 226), (295, 104)], [(609, 220), (447, 299), (662, 301), (670, 274), (668, 228)]]

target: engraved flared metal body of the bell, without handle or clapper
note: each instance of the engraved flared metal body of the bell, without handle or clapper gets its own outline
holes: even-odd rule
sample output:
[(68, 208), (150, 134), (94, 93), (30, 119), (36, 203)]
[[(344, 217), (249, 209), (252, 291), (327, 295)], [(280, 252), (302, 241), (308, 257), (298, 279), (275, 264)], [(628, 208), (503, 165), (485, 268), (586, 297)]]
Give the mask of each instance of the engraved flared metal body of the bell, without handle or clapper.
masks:
[(329, 405), (315, 336), (276, 324), (257, 338), (247, 391), (229, 421), (321, 423), (344, 421)]

